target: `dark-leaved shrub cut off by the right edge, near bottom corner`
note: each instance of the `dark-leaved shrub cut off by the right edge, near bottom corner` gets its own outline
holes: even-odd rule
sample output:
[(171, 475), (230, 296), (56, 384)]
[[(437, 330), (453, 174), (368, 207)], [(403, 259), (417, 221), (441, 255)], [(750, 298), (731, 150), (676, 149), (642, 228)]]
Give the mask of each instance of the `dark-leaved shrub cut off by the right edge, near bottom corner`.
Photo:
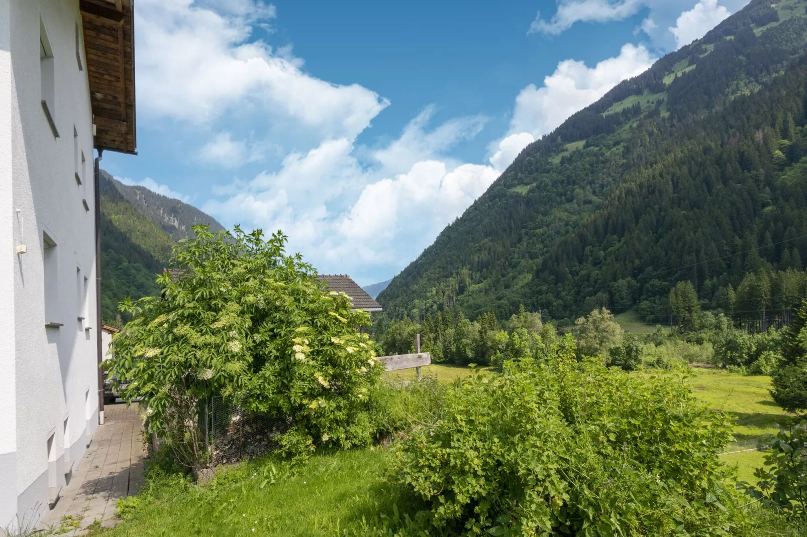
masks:
[(784, 510), (792, 518), (807, 520), (807, 422), (780, 427), (771, 438), (771, 451), (765, 457), (767, 468), (757, 468), (756, 486), (741, 482), (751, 497), (763, 505)]

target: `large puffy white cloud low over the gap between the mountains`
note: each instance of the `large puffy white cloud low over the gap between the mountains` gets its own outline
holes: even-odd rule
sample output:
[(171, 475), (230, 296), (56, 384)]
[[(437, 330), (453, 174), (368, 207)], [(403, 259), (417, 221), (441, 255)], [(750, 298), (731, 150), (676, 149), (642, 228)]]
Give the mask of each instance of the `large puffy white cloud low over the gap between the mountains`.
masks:
[(245, 227), (282, 229), (291, 248), (320, 267), (399, 270), (498, 177), (491, 166), (454, 163), (444, 154), (476, 135), (484, 119), (429, 128), (433, 111), (426, 108), (398, 139), (369, 152), (370, 162), (359, 162), (352, 139), (327, 139), (286, 156), (277, 172), (220, 188), (228, 197), (203, 210)]

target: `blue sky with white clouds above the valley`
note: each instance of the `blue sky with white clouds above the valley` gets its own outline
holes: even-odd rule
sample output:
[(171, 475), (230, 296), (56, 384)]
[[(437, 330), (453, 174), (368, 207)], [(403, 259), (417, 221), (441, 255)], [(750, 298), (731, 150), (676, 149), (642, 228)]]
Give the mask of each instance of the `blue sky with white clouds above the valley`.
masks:
[(139, 155), (102, 166), (387, 280), (526, 144), (746, 3), (139, 0)]

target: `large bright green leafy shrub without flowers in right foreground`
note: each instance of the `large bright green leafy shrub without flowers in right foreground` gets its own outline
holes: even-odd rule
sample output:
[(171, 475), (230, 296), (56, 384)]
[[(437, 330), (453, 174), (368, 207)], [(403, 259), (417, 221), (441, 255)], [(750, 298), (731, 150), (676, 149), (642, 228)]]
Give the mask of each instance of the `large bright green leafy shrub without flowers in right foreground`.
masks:
[[(449, 535), (733, 535), (745, 515), (717, 453), (730, 419), (680, 377), (508, 362), (449, 388), (442, 418), (396, 448), (391, 478)], [(429, 530), (429, 527), (433, 528)]]

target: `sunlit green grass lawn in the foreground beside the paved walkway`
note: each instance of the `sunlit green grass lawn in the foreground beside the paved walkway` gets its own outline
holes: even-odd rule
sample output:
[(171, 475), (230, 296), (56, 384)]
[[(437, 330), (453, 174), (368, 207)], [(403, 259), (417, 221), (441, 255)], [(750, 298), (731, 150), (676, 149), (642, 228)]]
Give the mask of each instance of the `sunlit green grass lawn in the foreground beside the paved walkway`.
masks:
[(367, 535), (368, 525), (383, 524), (381, 514), (395, 516), (394, 493), (381, 480), (386, 457), (377, 449), (337, 452), (296, 472), (256, 460), (205, 487), (166, 487), (118, 527), (92, 535)]

